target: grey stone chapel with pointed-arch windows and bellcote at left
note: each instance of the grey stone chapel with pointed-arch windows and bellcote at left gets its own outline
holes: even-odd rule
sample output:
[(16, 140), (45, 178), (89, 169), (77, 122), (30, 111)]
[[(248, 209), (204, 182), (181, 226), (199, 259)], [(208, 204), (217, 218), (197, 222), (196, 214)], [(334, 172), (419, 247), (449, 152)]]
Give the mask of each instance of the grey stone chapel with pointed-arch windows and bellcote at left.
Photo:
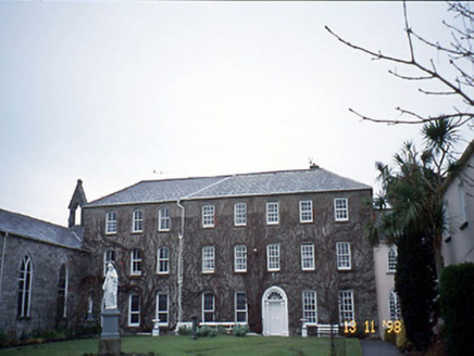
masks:
[(90, 272), (80, 227), (0, 209), (0, 330), (10, 339), (84, 320)]

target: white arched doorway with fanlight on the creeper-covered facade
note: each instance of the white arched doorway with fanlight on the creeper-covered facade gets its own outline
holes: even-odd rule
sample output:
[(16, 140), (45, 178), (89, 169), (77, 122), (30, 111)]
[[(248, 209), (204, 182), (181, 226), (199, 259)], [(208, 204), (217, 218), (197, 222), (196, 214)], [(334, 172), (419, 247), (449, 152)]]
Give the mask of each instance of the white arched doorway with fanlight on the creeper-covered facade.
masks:
[(262, 297), (264, 336), (288, 336), (288, 298), (279, 287), (271, 287)]

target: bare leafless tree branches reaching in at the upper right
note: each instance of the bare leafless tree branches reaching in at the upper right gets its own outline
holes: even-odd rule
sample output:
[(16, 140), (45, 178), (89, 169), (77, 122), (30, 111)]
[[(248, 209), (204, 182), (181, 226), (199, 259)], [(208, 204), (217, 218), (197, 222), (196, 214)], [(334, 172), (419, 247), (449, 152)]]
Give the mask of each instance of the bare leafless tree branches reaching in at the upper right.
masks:
[[(459, 21), (458, 25), (442, 22), (447, 30), (450, 31), (452, 40), (450, 43), (439, 43), (432, 41), (425, 37), (420, 36), (414, 31), (409, 22), (407, 2), (403, 1), (403, 16), (404, 16), (404, 33), (407, 35), (407, 44), (409, 47), (409, 55), (391, 56), (381, 51), (374, 51), (353, 44), (340, 36), (336, 35), (332, 29), (325, 26), (326, 30), (336, 37), (340, 42), (349, 46), (350, 48), (366, 53), (373, 60), (389, 61), (395, 64), (401, 64), (403, 68), (415, 69), (415, 75), (404, 75), (396, 71), (389, 73), (397, 78), (417, 81), (420, 85), (419, 91), (427, 96), (445, 96), (456, 97), (463, 104), (463, 107), (453, 106), (449, 112), (444, 114), (422, 115), (415, 111), (396, 107), (401, 114), (400, 118), (374, 118), (349, 109), (352, 113), (361, 117), (363, 120), (384, 123), (384, 124), (424, 124), (427, 122), (449, 119), (459, 127), (466, 123), (473, 124), (474, 118), (474, 52), (472, 50), (472, 40), (474, 38), (474, 11), (471, 11), (469, 2), (448, 2), (448, 12), (454, 14), (454, 18)], [(434, 49), (441, 54), (446, 63), (439, 67), (435, 65), (433, 59), (424, 60), (420, 55), (420, 49)], [(438, 85), (439, 90), (425, 89), (428, 84)]]

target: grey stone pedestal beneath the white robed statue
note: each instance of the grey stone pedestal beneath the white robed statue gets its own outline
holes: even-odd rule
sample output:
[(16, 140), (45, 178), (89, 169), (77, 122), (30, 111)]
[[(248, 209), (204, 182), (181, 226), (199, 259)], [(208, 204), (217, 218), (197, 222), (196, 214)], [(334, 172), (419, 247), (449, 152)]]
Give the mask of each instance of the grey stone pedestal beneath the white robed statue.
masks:
[(99, 341), (100, 356), (120, 356), (121, 336), (118, 333), (118, 318), (121, 313), (117, 309), (103, 309), (102, 333)]

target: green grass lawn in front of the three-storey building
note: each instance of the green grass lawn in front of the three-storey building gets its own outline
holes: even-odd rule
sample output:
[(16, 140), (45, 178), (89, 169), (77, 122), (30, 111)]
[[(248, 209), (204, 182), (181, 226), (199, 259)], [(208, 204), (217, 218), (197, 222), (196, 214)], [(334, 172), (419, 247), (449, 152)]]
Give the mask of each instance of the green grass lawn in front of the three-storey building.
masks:
[[(362, 355), (359, 340), (339, 339), (339, 341), (346, 343), (347, 356)], [(0, 356), (83, 356), (85, 353), (97, 353), (98, 345), (98, 339), (64, 341), (0, 349)], [(329, 339), (220, 335), (194, 341), (188, 336), (134, 336), (122, 339), (122, 352), (144, 354), (153, 352), (157, 356), (328, 356)]]

